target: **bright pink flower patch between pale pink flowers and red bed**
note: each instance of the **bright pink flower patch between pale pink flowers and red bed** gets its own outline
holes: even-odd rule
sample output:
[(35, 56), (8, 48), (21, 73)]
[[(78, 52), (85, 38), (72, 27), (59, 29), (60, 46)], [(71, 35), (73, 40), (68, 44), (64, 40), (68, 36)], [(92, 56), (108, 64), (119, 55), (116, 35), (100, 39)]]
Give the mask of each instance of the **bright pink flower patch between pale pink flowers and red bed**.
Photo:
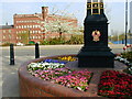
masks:
[(69, 75), (54, 78), (53, 82), (86, 91), (88, 89), (88, 84), (91, 79), (91, 76), (92, 73), (88, 70), (73, 72)]

